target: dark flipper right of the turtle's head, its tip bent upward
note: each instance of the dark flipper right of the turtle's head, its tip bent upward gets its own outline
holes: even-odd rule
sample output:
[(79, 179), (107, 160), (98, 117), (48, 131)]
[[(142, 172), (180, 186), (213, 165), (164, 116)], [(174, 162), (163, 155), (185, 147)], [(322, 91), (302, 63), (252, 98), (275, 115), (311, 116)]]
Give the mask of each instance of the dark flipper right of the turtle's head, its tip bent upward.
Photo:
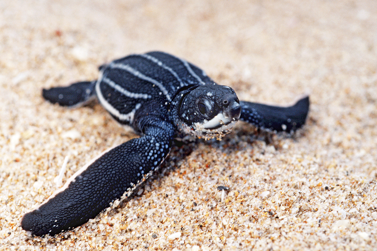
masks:
[(305, 124), (309, 111), (309, 96), (293, 106), (280, 107), (241, 101), (241, 120), (252, 123), (261, 129), (294, 132)]

